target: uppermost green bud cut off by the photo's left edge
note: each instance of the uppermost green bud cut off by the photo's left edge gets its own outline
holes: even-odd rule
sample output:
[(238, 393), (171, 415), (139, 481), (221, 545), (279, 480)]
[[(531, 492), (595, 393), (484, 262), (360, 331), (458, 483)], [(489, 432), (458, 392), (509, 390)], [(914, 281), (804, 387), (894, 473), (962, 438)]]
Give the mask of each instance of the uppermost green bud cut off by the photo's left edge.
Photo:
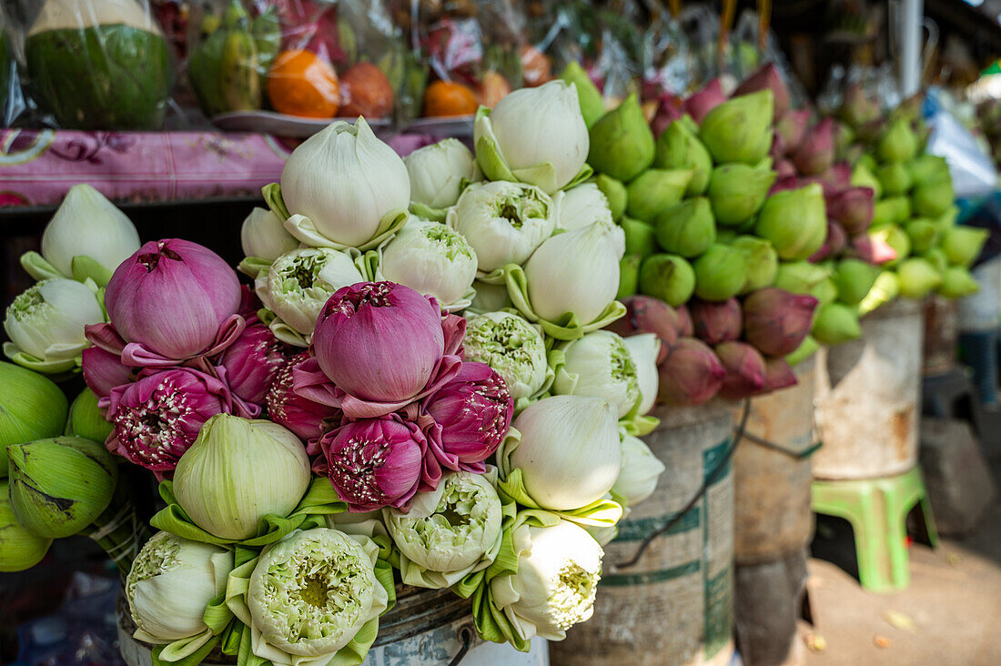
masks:
[(0, 362), (0, 478), (7, 445), (55, 437), (66, 424), (66, 396), (47, 378)]

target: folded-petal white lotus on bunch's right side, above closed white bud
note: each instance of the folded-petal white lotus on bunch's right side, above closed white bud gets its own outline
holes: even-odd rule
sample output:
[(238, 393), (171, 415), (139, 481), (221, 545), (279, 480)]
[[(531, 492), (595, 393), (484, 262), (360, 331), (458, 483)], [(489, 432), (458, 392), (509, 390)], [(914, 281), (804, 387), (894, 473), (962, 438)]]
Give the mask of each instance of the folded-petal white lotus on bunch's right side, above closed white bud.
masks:
[(612, 403), (622, 419), (636, 407), (640, 385), (626, 343), (611, 330), (596, 330), (570, 343), (566, 365), (553, 388), (557, 394), (593, 396)]

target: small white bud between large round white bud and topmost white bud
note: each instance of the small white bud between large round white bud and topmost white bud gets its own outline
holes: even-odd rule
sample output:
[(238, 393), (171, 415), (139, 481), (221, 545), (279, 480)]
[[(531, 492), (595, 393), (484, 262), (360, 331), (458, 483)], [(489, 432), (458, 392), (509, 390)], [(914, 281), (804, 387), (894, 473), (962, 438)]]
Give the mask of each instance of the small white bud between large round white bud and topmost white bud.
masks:
[(455, 205), (462, 181), (482, 178), (475, 157), (454, 138), (417, 148), (403, 157), (403, 164), (410, 176), (410, 200), (429, 208)]

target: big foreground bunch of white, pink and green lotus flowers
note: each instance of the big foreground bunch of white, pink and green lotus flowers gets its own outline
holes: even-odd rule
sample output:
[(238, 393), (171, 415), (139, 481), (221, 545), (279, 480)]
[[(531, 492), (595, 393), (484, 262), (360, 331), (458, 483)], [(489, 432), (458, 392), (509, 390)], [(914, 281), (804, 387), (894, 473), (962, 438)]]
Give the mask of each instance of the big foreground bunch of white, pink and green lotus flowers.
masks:
[[(476, 127), (475, 153), (400, 158), (363, 118), (303, 142), (244, 222), (252, 289), (197, 243), (140, 245), (89, 189), (100, 228), (67, 229), (68, 197), (8, 310), (31, 370), (0, 396), (25, 402), (0, 429), (4, 568), (81, 530), (113, 552), (125, 466), (159, 482), (156, 533), (118, 561), (157, 663), (359, 664), (400, 584), (450, 589), (520, 650), (587, 620), (602, 544), (664, 469), (637, 439), (661, 343), (602, 329), (625, 243), (583, 182), (575, 86)], [(68, 408), (43, 372), (88, 389)], [(72, 520), (52, 529), (39, 489)]]

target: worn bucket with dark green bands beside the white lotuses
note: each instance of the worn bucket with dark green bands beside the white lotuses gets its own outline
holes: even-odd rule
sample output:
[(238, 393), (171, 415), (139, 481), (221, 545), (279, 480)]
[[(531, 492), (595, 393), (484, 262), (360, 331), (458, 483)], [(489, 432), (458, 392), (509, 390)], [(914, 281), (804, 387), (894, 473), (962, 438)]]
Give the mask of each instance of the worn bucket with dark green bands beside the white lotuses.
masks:
[[(667, 471), (606, 547), (595, 615), (568, 630), (566, 641), (550, 645), (554, 664), (730, 663), (734, 485), (731, 463), (722, 463), (733, 436), (732, 412), (733, 405), (722, 401), (654, 412), (661, 425), (645, 441)], [(660, 533), (696, 497), (693, 508)]]

